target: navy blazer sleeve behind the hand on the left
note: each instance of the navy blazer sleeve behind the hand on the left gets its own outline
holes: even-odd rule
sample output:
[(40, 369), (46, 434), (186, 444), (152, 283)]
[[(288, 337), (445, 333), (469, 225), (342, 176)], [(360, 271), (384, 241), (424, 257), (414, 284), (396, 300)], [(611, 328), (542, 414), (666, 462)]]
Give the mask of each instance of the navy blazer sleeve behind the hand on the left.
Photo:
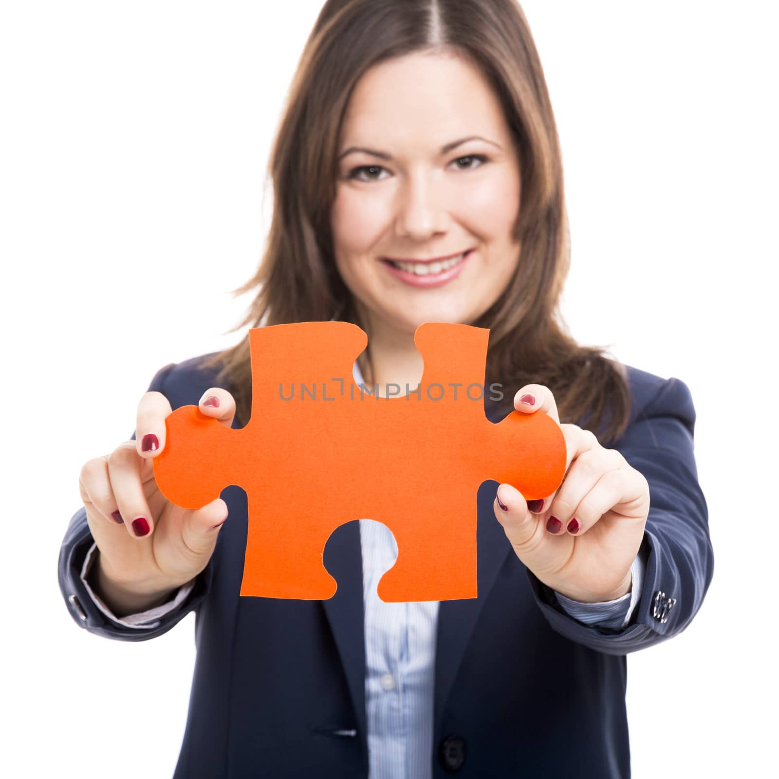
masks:
[[(160, 368), (154, 375), (149, 385), (149, 392), (160, 392), (165, 394), (164, 382), (171, 368), (176, 363), (166, 365)], [(132, 432), (132, 439), (135, 439), (136, 432)], [(213, 557), (203, 571), (196, 576), (192, 591), (185, 598), (185, 601), (174, 611), (161, 615), (158, 622), (153, 627), (138, 629), (137, 626), (126, 626), (113, 619), (109, 619), (98, 608), (95, 601), (90, 597), (81, 573), (84, 566), (87, 553), (94, 543), (89, 523), (86, 521), (86, 509), (81, 508), (72, 516), (68, 530), (65, 532), (65, 539), (62, 541), (62, 547), (59, 552), (58, 580), (59, 589), (62, 597), (65, 598), (65, 604), (68, 607), (70, 615), (76, 622), (76, 625), (86, 629), (90, 633), (96, 633), (98, 636), (112, 638), (120, 641), (147, 641), (149, 639), (167, 633), (177, 622), (180, 622), (193, 609), (199, 608), (206, 595), (211, 589), (213, 580)]]

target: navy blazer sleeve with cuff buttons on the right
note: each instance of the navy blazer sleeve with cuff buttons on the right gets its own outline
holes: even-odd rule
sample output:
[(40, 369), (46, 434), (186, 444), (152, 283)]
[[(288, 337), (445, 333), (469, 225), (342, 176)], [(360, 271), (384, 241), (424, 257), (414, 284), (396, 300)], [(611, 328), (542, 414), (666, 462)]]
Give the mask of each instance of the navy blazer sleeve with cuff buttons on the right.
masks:
[(530, 590), (552, 629), (605, 654), (627, 654), (681, 633), (698, 612), (714, 575), (706, 499), (693, 453), (696, 412), (689, 387), (671, 377), (615, 443), (647, 479), (650, 509), (640, 550), (647, 562), (640, 602), (626, 626), (586, 626), (566, 614), (527, 571)]

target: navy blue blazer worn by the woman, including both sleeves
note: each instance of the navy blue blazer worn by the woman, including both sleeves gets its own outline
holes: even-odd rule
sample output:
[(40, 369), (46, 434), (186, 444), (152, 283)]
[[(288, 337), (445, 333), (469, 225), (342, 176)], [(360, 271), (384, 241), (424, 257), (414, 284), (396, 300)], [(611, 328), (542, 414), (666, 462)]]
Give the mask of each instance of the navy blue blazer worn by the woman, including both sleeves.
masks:
[[(196, 405), (215, 383), (201, 358), (166, 365), (149, 389)], [(435, 659), (433, 776), (629, 777), (626, 654), (684, 630), (714, 572), (707, 503), (693, 456), (696, 412), (679, 379), (628, 367), (630, 424), (619, 449), (650, 486), (640, 604), (622, 629), (586, 626), (562, 610), (516, 557), (478, 491), (478, 598), (442, 601)], [(229, 390), (229, 387), (225, 387)], [(497, 421), (493, 419), (493, 421)], [(244, 422), (235, 419), (234, 428)], [(135, 437), (133, 433), (132, 437)], [(107, 619), (80, 571), (93, 543), (80, 508), (59, 555), (59, 585), (76, 624), (143, 641), (194, 610), (197, 657), (174, 779), (366, 779), (365, 640), (358, 521), (325, 549), (338, 583), (327, 601), (240, 597), (245, 492), (223, 490), (230, 521), (178, 611), (155, 629)], [(567, 729), (561, 740), (560, 727)]]

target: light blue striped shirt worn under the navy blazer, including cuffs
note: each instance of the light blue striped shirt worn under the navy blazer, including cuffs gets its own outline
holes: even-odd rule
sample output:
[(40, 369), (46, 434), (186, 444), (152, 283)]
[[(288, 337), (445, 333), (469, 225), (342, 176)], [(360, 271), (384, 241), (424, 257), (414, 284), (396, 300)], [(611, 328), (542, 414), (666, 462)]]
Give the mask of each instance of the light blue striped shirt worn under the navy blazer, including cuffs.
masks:
[[(363, 383), (354, 362), (354, 381)], [(495, 520), (496, 522), (498, 520)], [(385, 603), (376, 587), (397, 558), (397, 543), (386, 525), (359, 520), (365, 613), (365, 707), (368, 717), (369, 779), (431, 779), (435, 634), (439, 601)], [(508, 541), (506, 541), (508, 543)], [(178, 608), (194, 587), (183, 585), (167, 603), (147, 612), (116, 617), (94, 593), (86, 575), (96, 545), (84, 560), (81, 580), (97, 608), (121, 625), (149, 629)], [(626, 626), (636, 608), (646, 561), (633, 561), (632, 590), (605, 603), (580, 603), (555, 593), (565, 611), (587, 625)]]

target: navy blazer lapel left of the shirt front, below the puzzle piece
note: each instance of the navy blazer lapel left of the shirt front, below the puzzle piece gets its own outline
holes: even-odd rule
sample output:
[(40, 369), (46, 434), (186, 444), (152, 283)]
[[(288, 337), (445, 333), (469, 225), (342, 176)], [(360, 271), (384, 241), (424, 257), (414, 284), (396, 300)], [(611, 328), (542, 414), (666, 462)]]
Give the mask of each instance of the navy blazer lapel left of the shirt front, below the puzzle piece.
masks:
[(322, 601), (330, 621), (341, 662), (344, 664), (358, 730), (367, 749), (365, 712), (365, 608), (362, 595), (362, 552), (360, 523), (352, 520), (340, 525), (327, 541), (325, 567), (337, 581), (333, 597)]

